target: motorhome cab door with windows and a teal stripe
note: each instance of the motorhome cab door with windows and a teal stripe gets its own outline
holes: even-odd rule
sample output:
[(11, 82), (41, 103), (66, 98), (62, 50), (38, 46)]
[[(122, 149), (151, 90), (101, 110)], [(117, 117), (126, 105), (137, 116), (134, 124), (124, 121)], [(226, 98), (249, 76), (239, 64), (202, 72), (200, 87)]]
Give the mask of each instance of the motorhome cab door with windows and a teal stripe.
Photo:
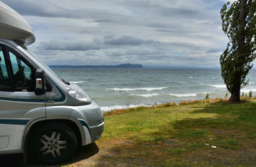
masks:
[(36, 96), (36, 67), (15, 48), (0, 45), (0, 152), (22, 149), (32, 120), (46, 117), (46, 97)]

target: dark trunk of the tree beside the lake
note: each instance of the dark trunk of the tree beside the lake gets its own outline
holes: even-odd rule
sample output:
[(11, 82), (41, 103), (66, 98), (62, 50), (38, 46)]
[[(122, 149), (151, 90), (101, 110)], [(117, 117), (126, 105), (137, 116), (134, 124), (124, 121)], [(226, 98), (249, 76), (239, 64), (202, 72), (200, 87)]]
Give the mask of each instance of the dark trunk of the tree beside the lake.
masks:
[(235, 74), (235, 83), (233, 87), (233, 91), (231, 92), (231, 96), (229, 101), (235, 102), (240, 101), (240, 86), (241, 86), (241, 68), (243, 66), (243, 62), (245, 62), (245, 24), (246, 24), (246, 6), (247, 0), (239, 0), (240, 1), (240, 34), (239, 34), (239, 43), (238, 43), (238, 59), (240, 60), (235, 69), (240, 69)]

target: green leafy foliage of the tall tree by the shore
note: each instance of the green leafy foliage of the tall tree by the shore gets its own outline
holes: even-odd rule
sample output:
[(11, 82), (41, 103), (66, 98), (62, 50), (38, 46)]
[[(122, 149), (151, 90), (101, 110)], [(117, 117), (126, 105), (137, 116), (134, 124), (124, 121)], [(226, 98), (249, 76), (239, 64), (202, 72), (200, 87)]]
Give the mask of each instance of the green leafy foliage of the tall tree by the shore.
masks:
[[(225, 4), (220, 15), (222, 19), (223, 31), (228, 35), (228, 46), (220, 56), (221, 76), (230, 93), (247, 85), (246, 76), (256, 57), (256, 0), (248, 0), (245, 10), (245, 28), (241, 25), (241, 3), (235, 1)], [(245, 43), (241, 45), (240, 35), (243, 36)]]

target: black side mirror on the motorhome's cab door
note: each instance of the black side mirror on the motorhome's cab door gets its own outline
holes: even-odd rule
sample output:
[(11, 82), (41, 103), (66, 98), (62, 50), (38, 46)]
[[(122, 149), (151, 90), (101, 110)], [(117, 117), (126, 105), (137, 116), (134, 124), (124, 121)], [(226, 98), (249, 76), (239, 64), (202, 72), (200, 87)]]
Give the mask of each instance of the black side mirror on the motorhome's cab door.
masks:
[(46, 72), (43, 69), (36, 69), (36, 95), (43, 95), (46, 93)]

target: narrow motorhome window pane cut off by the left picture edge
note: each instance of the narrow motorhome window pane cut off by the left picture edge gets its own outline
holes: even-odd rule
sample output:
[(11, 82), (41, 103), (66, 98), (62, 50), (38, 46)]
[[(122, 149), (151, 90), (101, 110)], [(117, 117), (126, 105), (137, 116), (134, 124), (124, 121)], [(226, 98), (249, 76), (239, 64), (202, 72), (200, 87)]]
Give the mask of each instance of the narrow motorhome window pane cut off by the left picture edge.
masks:
[(11, 91), (11, 84), (9, 83), (5, 62), (4, 52), (0, 46), (0, 91)]

